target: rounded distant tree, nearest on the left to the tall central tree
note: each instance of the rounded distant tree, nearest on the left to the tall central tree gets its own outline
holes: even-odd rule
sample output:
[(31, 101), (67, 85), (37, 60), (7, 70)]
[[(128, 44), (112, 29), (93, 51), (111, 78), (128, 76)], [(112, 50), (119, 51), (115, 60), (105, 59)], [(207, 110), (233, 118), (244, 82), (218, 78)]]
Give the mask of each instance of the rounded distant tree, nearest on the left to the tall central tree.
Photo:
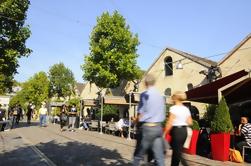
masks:
[(53, 65), (49, 70), (50, 96), (70, 97), (74, 93), (75, 79), (73, 72), (63, 63)]

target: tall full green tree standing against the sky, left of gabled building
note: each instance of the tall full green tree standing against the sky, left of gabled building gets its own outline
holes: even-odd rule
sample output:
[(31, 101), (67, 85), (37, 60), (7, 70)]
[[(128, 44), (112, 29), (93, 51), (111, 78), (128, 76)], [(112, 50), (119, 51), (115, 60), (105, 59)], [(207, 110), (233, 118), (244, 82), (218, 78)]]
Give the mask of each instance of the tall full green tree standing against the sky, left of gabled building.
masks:
[(139, 78), (138, 45), (138, 36), (130, 32), (117, 11), (112, 15), (103, 13), (91, 33), (90, 54), (82, 65), (83, 78), (100, 88), (115, 88), (122, 80)]

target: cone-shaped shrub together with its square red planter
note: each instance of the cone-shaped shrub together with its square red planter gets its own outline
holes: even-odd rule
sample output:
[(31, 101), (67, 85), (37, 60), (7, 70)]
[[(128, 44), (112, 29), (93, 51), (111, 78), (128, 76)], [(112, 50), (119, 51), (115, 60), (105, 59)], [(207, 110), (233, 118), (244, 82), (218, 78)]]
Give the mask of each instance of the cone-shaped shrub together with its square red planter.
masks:
[(221, 99), (211, 122), (211, 150), (214, 160), (227, 161), (229, 158), (230, 132), (233, 125), (226, 100)]

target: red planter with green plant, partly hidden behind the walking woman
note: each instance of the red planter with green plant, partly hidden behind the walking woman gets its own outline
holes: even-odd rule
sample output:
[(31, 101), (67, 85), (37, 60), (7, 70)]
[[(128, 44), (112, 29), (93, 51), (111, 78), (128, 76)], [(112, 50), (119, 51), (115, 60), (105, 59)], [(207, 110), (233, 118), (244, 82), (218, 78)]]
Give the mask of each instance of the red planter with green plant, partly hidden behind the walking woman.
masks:
[(188, 149), (185, 148), (184, 152), (188, 153), (188, 154), (195, 155), (196, 154), (196, 148), (197, 148), (197, 140), (198, 140), (199, 132), (200, 132), (200, 126), (199, 126), (199, 123), (196, 120), (193, 120), (192, 130), (193, 130), (193, 134), (192, 134), (192, 138), (191, 138), (189, 148)]

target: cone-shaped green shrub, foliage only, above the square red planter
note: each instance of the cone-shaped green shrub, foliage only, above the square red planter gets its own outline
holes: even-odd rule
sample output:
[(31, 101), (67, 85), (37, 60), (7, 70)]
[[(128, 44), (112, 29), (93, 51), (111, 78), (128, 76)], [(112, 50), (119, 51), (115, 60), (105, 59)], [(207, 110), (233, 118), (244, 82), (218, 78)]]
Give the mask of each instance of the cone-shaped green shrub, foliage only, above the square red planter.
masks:
[(212, 133), (229, 133), (232, 130), (233, 124), (230, 119), (229, 108), (223, 97), (211, 122), (211, 131)]

